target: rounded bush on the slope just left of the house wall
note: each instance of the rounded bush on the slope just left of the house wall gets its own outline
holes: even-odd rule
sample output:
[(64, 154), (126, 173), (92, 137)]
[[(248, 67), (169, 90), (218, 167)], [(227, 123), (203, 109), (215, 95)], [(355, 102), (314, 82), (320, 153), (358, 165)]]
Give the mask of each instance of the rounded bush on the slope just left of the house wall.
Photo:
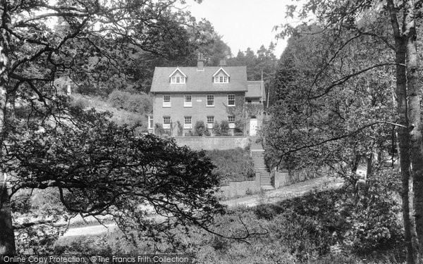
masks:
[(114, 90), (109, 94), (109, 103), (112, 106), (145, 115), (152, 111), (152, 98), (147, 94), (136, 94)]

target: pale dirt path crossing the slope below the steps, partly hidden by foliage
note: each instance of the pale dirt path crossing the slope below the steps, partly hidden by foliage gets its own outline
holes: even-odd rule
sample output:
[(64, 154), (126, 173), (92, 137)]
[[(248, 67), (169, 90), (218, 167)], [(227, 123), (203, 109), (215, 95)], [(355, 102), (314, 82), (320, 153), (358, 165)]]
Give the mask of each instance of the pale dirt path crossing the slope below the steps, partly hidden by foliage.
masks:
[[(313, 189), (332, 189), (341, 187), (343, 181), (331, 177), (319, 177), (305, 182), (291, 184), (270, 191), (264, 191), (262, 194), (255, 194), (252, 196), (244, 196), (238, 199), (231, 199), (223, 201), (228, 207), (233, 206), (257, 206), (259, 203), (276, 203), (295, 196), (302, 196)], [(90, 225), (87, 227), (70, 227), (68, 231), (63, 234), (63, 237), (87, 236), (95, 234), (104, 234), (116, 229), (116, 224), (106, 225)]]

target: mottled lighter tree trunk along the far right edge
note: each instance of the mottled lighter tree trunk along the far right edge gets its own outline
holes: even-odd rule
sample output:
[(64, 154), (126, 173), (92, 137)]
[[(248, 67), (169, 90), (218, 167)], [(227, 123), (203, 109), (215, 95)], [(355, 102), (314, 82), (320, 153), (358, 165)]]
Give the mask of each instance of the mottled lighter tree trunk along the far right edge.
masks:
[(407, 36), (407, 97), (408, 121), (410, 125), (410, 153), (413, 179), (414, 222), (417, 233), (417, 252), (423, 249), (423, 146), (419, 89), (419, 56), (417, 54), (417, 32), (413, 1), (407, 1), (405, 13), (405, 35)]

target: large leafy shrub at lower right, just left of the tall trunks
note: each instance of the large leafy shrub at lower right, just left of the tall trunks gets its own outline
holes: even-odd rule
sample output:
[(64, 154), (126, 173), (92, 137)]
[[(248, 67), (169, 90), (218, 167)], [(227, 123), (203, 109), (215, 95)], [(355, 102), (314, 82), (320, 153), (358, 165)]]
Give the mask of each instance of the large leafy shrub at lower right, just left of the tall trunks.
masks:
[(402, 222), (398, 221), (401, 206), (395, 199), (396, 191), (389, 190), (388, 174), (389, 171), (375, 172), (367, 193), (357, 194), (358, 200), (353, 197), (341, 203), (341, 213), (350, 225), (343, 235), (345, 249), (367, 254), (391, 249), (403, 241)]

